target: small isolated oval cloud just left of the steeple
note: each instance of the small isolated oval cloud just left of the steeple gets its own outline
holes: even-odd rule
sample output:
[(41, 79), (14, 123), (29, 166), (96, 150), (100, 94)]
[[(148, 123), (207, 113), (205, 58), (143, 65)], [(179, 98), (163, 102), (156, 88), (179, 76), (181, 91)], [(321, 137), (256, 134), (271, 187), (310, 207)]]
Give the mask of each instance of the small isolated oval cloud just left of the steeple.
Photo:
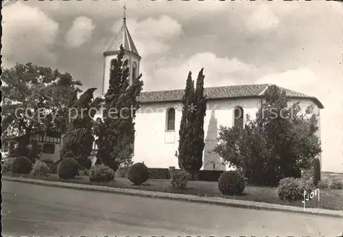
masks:
[(80, 47), (91, 39), (95, 25), (92, 19), (86, 16), (79, 16), (73, 21), (66, 34), (66, 41), (69, 47)]

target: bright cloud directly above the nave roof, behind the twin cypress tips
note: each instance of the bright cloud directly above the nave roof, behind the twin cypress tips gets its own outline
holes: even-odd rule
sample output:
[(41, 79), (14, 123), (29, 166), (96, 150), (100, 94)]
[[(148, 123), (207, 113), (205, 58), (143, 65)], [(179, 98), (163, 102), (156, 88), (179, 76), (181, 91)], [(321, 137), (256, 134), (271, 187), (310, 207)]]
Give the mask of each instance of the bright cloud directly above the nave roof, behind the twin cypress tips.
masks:
[(244, 84), (246, 80), (239, 81), (239, 78), (248, 78), (249, 75), (261, 70), (237, 58), (220, 58), (211, 52), (203, 52), (186, 59), (166, 60), (158, 67), (145, 63), (143, 70), (147, 71), (147, 76), (145, 76), (144, 89), (147, 91), (182, 89), (185, 87), (189, 71), (192, 72), (193, 79), (196, 79), (202, 67), (204, 67), (205, 87)]

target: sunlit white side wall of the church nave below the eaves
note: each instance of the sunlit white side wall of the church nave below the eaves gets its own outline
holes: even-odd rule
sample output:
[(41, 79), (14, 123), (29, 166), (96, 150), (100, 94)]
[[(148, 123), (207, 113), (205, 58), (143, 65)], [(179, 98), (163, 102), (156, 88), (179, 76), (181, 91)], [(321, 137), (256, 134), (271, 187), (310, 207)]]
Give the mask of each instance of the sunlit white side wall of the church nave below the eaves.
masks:
[[(182, 117), (182, 112), (177, 109), (178, 104), (180, 103), (164, 102), (141, 105), (135, 119), (134, 162), (144, 162), (150, 168), (168, 168), (169, 166), (178, 168), (178, 159), (175, 157), (175, 152), (178, 150), (178, 131)], [(220, 128), (220, 125), (233, 126), (233, 111), (236, 106), (241, 106), (244, 109), (244, 117), (248, 113), (254, 118), (257, 109), (261, 106), (261, 100), (259, 98), (243, 98), (208, 101), (206, 117), (204, 118), (205, 139), (211, 134), (211, 131), (208, 133), (211, 116), (214, 116), (217, 120), (217, 129)], [(166, 113), (170, 107), (176, 109), (176, 129), (175, 131), (166, 132)], [(172, 139), (174, 139), (174, 142), (172, 142)], [(213, 144), (213, 139), (211, 142)], [(217, 168), (213, 168), (213, 163), (215, 163), (215, 167), (220, 167), (221, 170), (228, 169), (228, 167), (221, 165), (220, 159), (211, 160), (208, 163), (206, 157), (204, 157), (206, 170), (217, 170)]]

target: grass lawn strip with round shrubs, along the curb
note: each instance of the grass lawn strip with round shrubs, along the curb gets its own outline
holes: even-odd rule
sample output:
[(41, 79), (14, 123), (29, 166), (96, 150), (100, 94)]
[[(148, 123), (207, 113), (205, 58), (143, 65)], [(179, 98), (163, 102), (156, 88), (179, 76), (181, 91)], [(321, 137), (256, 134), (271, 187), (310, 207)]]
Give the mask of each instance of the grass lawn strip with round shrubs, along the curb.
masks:
[[(281, 205), (292, 205), (297, 207), (303, 207), (301, 201), (296, 202), (284, 202), (279, 199), (277, 194), (277, 188), (268, 187), (252, 187), (248, 186), (244, 190), (244, 194), (241, 196), (223, 196), (217, 187), (216, 182), (207, 181), (189, 181), (187, 183), (187, 189), (178, 191), (173, 190), (168, 180), (152, 179), (145, 182), (143, 185), (133, 185), (128, 179), (116, 177), (114, 181), (108, 183), (95, 183), (89, 181), (86, 176), (78, 176), (75, 179), (61, 180), (57, 174), (49, 174), (47, 177), (32, 177), (31, 174), (5, 174), (14, 177), (26, 177), (30, 179), (43, 179), (47, 181), (64, 181), (69, 183), (84, 183), (91, 185), (103, 185), (113, 188), (130, 188), (137, 190), (150, 190), (157, 192), (174, 192), (182, 194), (193, 194), (198, 196), (220, 196), (226, 199), (241, 199), (246, 201), (258, 201), (263, 203), (273, 203)], [(323, 208), (329, 210), (342, 210), (343, 205), (343, 190), (320, 190), (320, 201), (315, 197), (311, 201), (306, 203), (306, 207)]]

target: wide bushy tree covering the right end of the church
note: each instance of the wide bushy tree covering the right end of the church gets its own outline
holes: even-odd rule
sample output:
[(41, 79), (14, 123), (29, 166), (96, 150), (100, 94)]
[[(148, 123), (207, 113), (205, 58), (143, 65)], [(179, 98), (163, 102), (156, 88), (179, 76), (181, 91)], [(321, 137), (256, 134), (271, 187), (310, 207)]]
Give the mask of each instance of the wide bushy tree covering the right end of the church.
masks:
[(285, 177), (300, 177), (320, 154), (316, 115), (311, 107), (300, 113), (299, 103), (287, 106), (285, 91), (269, 87), (256, 120), (245, 128), (220, 127), (214, 151), (250, 183), (277, 185)]

